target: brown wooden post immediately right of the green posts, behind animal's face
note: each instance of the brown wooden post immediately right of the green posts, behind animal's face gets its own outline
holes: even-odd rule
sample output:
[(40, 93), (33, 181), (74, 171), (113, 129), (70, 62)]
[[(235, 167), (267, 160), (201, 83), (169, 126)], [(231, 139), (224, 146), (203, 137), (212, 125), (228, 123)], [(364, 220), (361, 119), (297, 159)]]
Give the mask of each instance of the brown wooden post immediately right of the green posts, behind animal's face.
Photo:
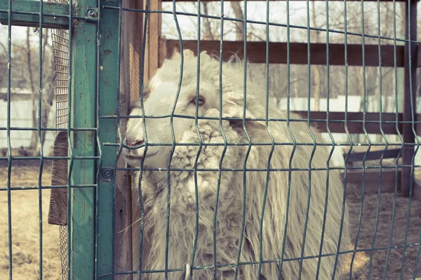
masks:
[[(123, 7), (146, 9), (144, 0), (123, 0)], [(160, 10), (161, 0), (149, 1), (149, 10)], [(121, 99), (120, 113), (128, 115), (131, 102), (140, 97), (142, 68), (144, 83), (152, 78), (159, 67), (159, 50), (161, 36), (161, 15), (149, 13), (145, 42), (145, 61), (142, 67), (142, 46), (144, 39), (145, 13), (123, 12), (122, 45), (121, 45)], [(128, 13), (128, 14), (127, 14)], [(121, 131), (124, 132), (126, 121), (121, 120)], [(124, 135), (123, 135), (124, 137)], [(119, 161), (118, 167), (126, 166)], [(139, 238), (138, 216), (140, 209), (135, 201), (138, 197), (135, 176), (128, 172), (117, 174), (116, 181), (116, 271), (138, 270), (133, 265), (139, 259), (139, 248), (136, 238)], [(133, 225), (135, 224), (135, 225)], [(128, 230), (125, 230), (127, 229)], [(136, 248), (135, 248), (136, 247)], [(133, 275), (125, 274), (116, 279), (133, 279)]]

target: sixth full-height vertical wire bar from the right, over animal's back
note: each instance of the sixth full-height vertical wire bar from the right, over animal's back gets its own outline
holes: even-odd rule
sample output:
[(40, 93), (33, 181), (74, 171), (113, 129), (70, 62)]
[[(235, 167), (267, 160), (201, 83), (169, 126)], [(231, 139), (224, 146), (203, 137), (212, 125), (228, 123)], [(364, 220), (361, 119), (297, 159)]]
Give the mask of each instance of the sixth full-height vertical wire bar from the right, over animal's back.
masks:
[(332, 158), (333, 151), (335, 151), (335, 139), (330, 132), (329, 128), (329, 111), (330, 111), (330, 65), (329, 65), (329, 2), (326, 0), (326, 130), (329, 134), (330, 141), (332, 141), (332, 148), (326, 161), (326, 198), (325, 198), (325, 209), (323, 213), (323, 226), (321, 230), (321, 241), (319, 249), (319, 260), (317, 263), (316, 278), (319, 277), (320, 265), (321, 265), (321, 254), (323, 253), (323, 241), (324, 232), (326, 230), (326, 216), (328, 214), (328, 198), (329, 198), (329, 177), (330, 177), (330, 159)]

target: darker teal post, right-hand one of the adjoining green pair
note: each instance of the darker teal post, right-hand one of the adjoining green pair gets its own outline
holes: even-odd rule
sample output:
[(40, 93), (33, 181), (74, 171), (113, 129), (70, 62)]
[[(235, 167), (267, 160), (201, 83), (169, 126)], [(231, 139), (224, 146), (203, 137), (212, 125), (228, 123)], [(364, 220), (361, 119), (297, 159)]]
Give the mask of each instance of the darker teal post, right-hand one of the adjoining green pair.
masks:
[[(119, 0), (102, 0), (100, 6), (119, 6)], [(114, 279), (114, 191), (116, 183), (116, 147), (103, 146), (104, 143), (115, 143), (119, 119), (100, 118), (100, 116), (117, 115), (119, 112), (119, 69), (120, 69), (120, 16), (119, 10), (100, 8), (100, 26), (98, 34), (98, 137), (100, 142), (100, 172), (111, 175), (98, 181), (98, 264), (97, 276), (100, 279)], [(117, 152), (119, 148), (117, 148)], [(102, 276), (106, 275), (106, 276)]]

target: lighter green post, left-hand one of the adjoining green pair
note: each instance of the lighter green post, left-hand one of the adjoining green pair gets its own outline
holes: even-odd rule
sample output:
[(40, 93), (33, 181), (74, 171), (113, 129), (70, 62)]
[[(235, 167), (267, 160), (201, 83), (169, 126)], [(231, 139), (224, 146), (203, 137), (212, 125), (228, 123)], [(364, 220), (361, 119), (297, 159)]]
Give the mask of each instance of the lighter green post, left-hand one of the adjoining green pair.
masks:
[[(95, 0), (74, 2), (73, 15), (85, 16), (89, 6), (96, 7)], [(70, 18), (69, 20), (72, 20)], [(69, 76), (69, 124), (71, 157), (69, 171), (74, 184), (95, 183), (94, 160), (75, 159), (95, 155), (95, 65), (96, 65), (96, 22), (74, 20), (70, 45)], [(93, 279), (94, 276), (94, 188), (71, 188), (70, 192), (70, 279)]]

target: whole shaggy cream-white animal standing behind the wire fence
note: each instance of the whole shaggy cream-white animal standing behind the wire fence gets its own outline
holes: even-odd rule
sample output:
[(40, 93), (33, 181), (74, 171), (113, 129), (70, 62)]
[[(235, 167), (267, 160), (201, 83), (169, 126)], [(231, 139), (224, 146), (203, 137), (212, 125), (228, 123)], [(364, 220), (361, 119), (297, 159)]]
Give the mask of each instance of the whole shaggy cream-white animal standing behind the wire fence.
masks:
[[(163, 62), (150, 80), (143, 106), (146, 116), (171, 115), (178, 92), (181, 59), (180, 53), (175, 52), (171, 59)], [(175, 115), (195, 116), (196, 102), (199, 100), (198, 116), (220, 118), (220, 62), (205, 52), (201, 53), (198, 91), (197, 57), (192, 51), (185, 50), (183, 59), (182, 83)], [(256, 85), (249, 79), (246, 84), (246, 110), (243, 111), (244, 68), (242, 62), (234, 63), (234, 60), (225, 62), (222, 66), (222, 117), (243, 118), (245, 112), (246, 118), (260, 120), (247, 120), (244, 130), (242, 120), (222, 120), (220, 124), (220, 120), (201, 119), (197, 121), (196, 128), (194, 118), (173, 118), (175, 143), (192, 145), (175, 146), (171, 168), (193, 170), (197, 158), (196, 168), (199, 171), (196, 172), (196, 184), (194, 171), (170, 172), (171, 207), (167, 267), (168, 172), (143, 171), (141, 189), (145, 216), (141, 266), (142, 270), (161, 272), (142, 274), (142, 279), (164, 279), (162, 271), (167, 268), (170, 270), (168, 279), (183, 279), (186, 274), (191, 274), (192, 279), (214, 279), (215, 272), (216, 279), (234, 279), (236, 273), (238, 279), (258, 279), (261, 273), (260, 279), (272, 280), (278, 279), (280, 267), (281, 279), (298, 279), (300, 273), (302, 279), (316, 279), (317, 273), (319, 279), (332, 279), (336, 254), (348, 249), (350, 241), (348, 212), (344, 204), (344, 188), (340, 174), (335, 169), (326, 171), (331, 146), (316, 146), (311, 160), (313, 170), (309, 184), (308, 169), (314, 140), (307, 129), (307, 122), (290, 121), (288, 127), (285, 121), (286, 112), (269, 104), (269, 118), (279, 120), (269, 121), (266, 127), (265, 121), (261, 120), (265, 118), (265, 86)], [(197, 92), (200, 94), (199, 99), (196, 99)], [(140, 105), (131, 111), (131, 116), (142, 116)], [(290, 113), (290, 118), (298, 119), (298, 116)], [(168, 117), (145, 118), (144, 127), (142, 118), (129, 119), (124, 144), (131, 149), (123, 150), (126, 162), (140, 167), (140, 162), (145, 157), (143, 167), (166, 169), (173, 148), (170, 123)], [(203, 143), (200, 153), (198, 130)], [(316, 142), (323, 143), (321, 135), (314, 129), (312, 132)], [(272, 146), (271, 136), (275, 146)], [(250, 150), (248, 137), (252, 143)], [(225, 149), (224, 138), (227, 148), (222, 158)], [(290, 144), (294, 141), (297, 144), (295, 146)], [(146, 142), (148, 146), (145, 153)], [(166, 143), (170, 146), (151, 146), (154, 143)], [(242, 145), (230, 145), (233, 143)], [(272, 158), (269, 161), (272, 149)], [(221, 159), (222, 172), (218, 185)], [(247, 169), (259, 170), (248, 170), (244, 173), (245, 160)], [(268, 163), (271, 169), (269, 175), (266, 171)], [(291, 172), (289, 168), (292, 169)], [(269, 181), (266, 184), (267, 179)], [(134, 185), (138, 186), (138, 182)], [(219, 202), (218, 209), (215, 209), (218, 186)], [(196, 195), (199, 228), (196, 228)], [(307, 218), (308, 197), (310, 200)], [(265, 212), (262, 218), (264, 202)], [(214, 229), (215, 210), (217, 215)], [(139, 207), (134, 215), (140, 218)], [(139, 223), (135, 223), (134, 226), (139, 233)], [(322, 257), (319, 258), (322, 232), (323, 249)], [(302, 250), (304, 233), (305, 248)], [(133, 239), (133, 251), (137, 252), (140, 235)], [(195, 239), (196, 251), (193, 256)], [(213, 268), (214, 242), (216, 271)], [(344, 254), (338, 257), (335, 279), (340, 278), (343, 258)], [(192, 270), (188, 271), (190, 265)], [(138, 267), (139, 259), (134, 258), (133, 269), (137, 270)]]

